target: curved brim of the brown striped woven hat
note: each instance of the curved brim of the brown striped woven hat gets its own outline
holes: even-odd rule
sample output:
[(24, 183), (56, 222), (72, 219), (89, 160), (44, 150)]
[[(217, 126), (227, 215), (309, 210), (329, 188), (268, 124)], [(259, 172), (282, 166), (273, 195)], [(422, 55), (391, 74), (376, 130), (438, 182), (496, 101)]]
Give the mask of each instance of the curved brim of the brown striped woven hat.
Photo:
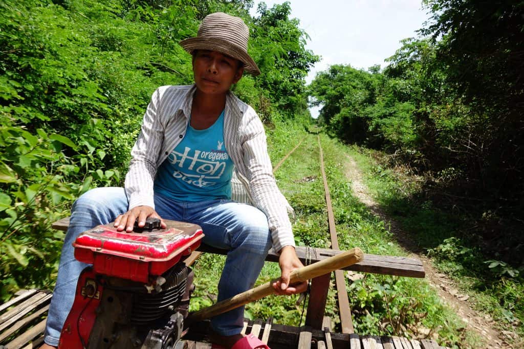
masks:
[(210, 50), (227, 54), (228, 56), (243, 62), (244, 71), (252, 74), (253, 76), (260, 74), (257, 64), (247, 52), (224, 39), (194, 37), (180, 41), (180, 45), (184, 48), (184, 50), (191, 54), (194, 50)]

